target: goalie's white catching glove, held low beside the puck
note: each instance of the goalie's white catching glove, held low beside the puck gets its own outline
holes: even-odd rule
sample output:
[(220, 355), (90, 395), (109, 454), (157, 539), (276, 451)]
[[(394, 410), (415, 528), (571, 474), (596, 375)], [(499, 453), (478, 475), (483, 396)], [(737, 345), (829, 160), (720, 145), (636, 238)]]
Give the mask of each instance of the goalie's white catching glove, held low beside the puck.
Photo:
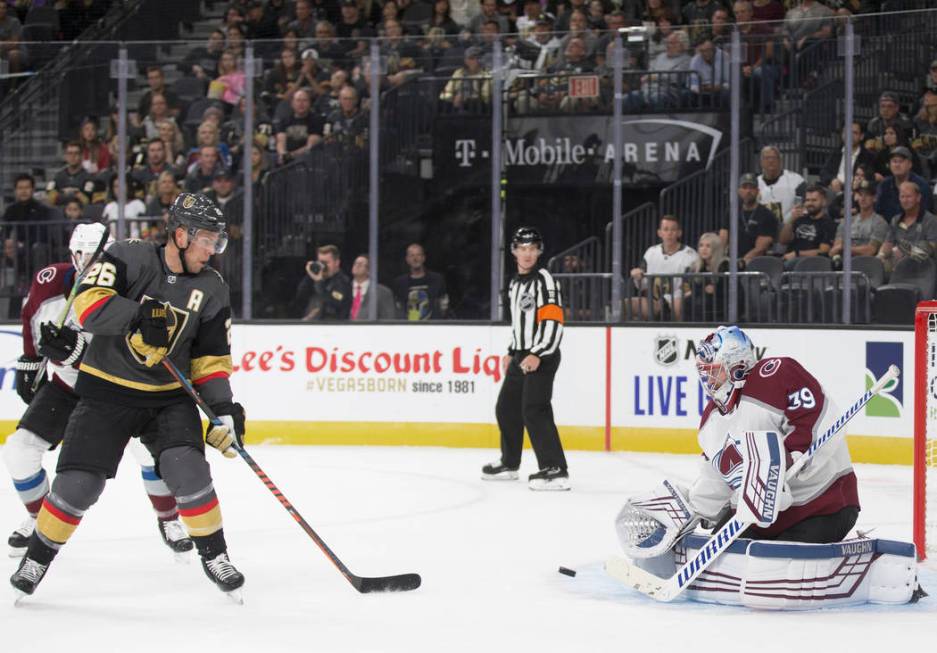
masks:
[(629, 557), (659, 556), (693, 532), (700, 516), (693, 512), (686, 495), (684, 488), (665, 480), (628, 499), (615, 518), (615, 530)]

